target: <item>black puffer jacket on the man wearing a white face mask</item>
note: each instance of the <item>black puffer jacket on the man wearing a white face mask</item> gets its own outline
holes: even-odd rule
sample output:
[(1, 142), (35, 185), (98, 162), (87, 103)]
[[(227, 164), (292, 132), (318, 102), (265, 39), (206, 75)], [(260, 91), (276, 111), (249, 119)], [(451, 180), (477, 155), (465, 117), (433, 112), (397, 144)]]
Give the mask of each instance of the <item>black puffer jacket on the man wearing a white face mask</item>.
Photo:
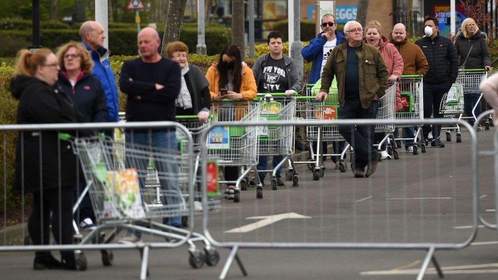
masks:
[(415, 42), (424, 52), (429, 62), (429, 71), (424, 76), (424, 83), (438, 85), (455, 83), (458, 75), (457, 51), (449, 38), (436, 35), (434, 40), (425, 36)]

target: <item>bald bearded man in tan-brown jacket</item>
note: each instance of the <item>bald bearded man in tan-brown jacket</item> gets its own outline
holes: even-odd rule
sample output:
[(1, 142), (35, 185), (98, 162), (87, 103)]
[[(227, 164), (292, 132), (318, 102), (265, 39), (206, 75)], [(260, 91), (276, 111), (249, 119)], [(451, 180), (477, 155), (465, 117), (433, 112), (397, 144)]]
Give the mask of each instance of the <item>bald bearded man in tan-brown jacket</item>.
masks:
[[(392, 28), (390, 42), (396, 47), (403, 58), (403, 74), (404, 75), (425, 75), (429, 70), (429, 63), (422, 49), (411, 42), (408, 42), (408, 34), (403, 23), (396, 23)], [(420, 98), (420, 97), (419, 97)], [(397, 130), (394, 131), (394, 137), (397, 138)], [(404, 138), (415, 138), (414, 129), (403, 128)], [(415, 142), (413, 140), (404, 140), (405, 149), (413, 152)]]

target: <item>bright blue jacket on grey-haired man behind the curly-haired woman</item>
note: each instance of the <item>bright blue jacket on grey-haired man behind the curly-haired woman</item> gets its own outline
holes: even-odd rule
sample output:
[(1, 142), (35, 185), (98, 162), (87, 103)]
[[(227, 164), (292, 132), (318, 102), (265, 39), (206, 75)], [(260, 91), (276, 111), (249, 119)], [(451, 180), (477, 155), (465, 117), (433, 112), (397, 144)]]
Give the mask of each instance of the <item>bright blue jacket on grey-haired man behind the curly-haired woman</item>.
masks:
[(101, 47), (93, 50), (89, 45), (83, 42), (83, 45), (92, 55), (93, 60), (93, 77), (101, 81), (102, 87), (106, 92), (107, 109), (109, 110), (109, 121), (119, 120), (119, 103), (116, 79), (109, 62), (109, 50)]

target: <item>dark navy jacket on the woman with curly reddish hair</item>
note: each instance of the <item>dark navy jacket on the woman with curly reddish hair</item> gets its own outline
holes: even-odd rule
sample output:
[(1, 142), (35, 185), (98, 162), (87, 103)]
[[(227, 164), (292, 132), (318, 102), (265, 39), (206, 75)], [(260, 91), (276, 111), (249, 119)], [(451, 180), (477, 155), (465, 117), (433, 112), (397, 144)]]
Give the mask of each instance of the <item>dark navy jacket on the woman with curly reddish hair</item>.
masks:
[(86, 122), (106, 122), (109, 120), (106, 93), (101, 82), (91, 74), (82, 74), (73, 87), (66, 75), (61, 72), (58, 84), (62, 91), (69, 95)]

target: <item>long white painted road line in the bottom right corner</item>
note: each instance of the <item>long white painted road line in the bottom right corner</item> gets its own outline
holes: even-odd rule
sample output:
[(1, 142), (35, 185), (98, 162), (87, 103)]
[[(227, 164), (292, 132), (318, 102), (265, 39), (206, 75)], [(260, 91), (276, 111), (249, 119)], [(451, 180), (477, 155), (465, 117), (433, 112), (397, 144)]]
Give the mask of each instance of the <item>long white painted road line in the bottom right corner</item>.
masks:
[[(479, 264), (479, 265), (460, 265), (441, 267), (444, 274), (474, 274), (474, 273), (498, 273), (498, 263)], [(396, 269), (396, 270), (373, 270), (363, 271), (360, 275), (416, 275), (420, 269)], [(433, 267), (427, 269), (426, 274), (436, 274), (437, 271)]]

